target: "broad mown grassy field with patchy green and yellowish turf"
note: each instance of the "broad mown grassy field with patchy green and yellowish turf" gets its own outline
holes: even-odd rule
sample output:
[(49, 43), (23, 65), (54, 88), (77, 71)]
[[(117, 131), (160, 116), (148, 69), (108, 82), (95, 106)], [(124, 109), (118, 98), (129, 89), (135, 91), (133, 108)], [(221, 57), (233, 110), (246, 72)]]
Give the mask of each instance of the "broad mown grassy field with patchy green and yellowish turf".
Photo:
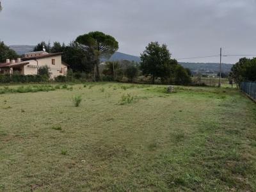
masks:
[(61, 87), (0, 94), (0, 191), (256, 191), (256, 104), (237, 90)]

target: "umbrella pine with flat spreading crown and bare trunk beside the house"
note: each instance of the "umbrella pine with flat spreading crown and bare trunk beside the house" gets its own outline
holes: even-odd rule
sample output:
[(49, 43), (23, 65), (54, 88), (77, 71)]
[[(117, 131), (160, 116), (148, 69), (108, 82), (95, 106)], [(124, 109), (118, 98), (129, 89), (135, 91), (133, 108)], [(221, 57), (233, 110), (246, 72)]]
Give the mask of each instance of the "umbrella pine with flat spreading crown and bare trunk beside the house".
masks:
[(80, 35), (76, 38), (86, 52), (90, 52), (95, 59), (96, 75), (95, 79), (99, 81), (99, 63), (100, 58), (110, 58), (118, 50), (118, 42), (113, 36), (106, 35), (99, 31), (90, 32)]

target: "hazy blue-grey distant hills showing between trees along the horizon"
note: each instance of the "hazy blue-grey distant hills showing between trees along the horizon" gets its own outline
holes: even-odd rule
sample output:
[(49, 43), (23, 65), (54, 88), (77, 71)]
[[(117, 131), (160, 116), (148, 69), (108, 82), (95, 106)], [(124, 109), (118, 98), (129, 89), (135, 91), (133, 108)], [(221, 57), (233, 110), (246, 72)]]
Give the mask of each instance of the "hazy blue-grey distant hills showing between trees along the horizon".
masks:
[[(17, 54), (25, 54), (26, 52), (31, 52), (35, 46), (33, 45), (10, 45), (10, 48), (17, 52)], [(125, 54), (122, 52), (115, 52), (113, 56), (108, 61), (136, 61), (140, 62), (139, 56), (133, 56), (131, 54)], [(102, 59), (102, 61), (107, 61)], [(220, 63), (182, 63), (180, 65), (183, 67), (189, 68), (194, 74), (200, 72), (202, 74), (214, 74), (219, 71)], [(230, 72), (230, 69), (233, 65), (228, 63), (223, 63), (222, 72)]]

